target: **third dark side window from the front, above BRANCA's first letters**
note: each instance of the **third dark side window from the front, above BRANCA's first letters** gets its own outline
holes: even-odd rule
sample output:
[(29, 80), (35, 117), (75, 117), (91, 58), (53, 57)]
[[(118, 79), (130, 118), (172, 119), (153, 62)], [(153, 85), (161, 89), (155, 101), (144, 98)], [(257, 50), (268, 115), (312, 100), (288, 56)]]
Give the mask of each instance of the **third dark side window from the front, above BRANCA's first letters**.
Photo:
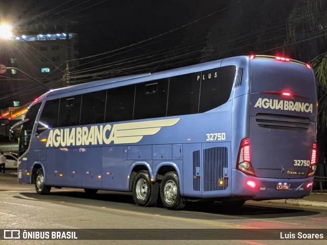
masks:
[(103, 123), (106, 107), (106, 91), (82, 95), (81, 125)]

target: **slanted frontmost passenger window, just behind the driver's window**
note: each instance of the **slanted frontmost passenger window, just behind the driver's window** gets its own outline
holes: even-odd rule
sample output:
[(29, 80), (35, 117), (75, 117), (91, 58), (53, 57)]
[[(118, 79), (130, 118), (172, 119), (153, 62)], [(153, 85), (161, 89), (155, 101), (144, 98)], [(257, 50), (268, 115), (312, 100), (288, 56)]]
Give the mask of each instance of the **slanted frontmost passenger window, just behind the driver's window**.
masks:
[(59, 99), (48, 100), (43, 107), (39, 123), (37, 125), (37, 134), (40, 134), (48, 128), (58, 126)]

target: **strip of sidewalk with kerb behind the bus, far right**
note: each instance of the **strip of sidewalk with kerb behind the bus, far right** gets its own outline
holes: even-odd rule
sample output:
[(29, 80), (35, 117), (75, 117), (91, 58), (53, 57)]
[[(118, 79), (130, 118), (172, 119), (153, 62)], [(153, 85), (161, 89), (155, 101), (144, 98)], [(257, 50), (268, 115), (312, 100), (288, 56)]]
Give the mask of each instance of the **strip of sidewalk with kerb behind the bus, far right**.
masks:
[(323, 193), (320, 190), (315, 190), (311, 193), (309, 197), (304, 197), (301, 199), (281, 199), (281, 200), (267, 200), (262, 201), (265, 203), (286, 203), (293, 206), (302, 207), (325, 207), (327, 208), (327, 191), (324, 190)]

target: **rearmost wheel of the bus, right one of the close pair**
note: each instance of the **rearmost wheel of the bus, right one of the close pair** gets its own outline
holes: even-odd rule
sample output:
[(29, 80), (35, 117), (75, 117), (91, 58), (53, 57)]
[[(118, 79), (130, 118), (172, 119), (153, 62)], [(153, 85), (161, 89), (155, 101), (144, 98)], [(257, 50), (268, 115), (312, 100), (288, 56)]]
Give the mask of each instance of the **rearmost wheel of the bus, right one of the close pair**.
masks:
[(183, 209), (185, 203), (180, 195), (179, 180), (176, 172), (168, 172), (160, 184), (160, 199), (165, 208)]

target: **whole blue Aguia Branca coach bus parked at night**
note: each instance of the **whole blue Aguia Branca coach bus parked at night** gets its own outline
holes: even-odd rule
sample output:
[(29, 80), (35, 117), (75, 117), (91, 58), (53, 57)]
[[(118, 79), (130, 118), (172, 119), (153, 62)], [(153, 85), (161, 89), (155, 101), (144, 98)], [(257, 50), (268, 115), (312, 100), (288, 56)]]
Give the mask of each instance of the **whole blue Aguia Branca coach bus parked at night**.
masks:
[(237, 208), (308, 196), (316, 169), (315, 75), (281, 57), (51, 90), (18, 124), (18, 181), (38, 194), (76, 187), (131, 192), (140, 206)]

